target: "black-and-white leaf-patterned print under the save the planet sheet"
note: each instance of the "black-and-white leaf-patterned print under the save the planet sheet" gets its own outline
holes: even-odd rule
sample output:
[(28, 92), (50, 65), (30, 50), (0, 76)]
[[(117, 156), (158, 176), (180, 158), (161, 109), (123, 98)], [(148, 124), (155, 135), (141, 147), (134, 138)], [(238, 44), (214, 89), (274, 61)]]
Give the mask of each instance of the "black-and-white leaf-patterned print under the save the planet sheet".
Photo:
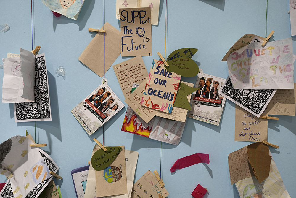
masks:
[(260, 117), (276, 93), (276, 89), (234, 89), (229, 76), (220, 90), (219, 94), (221, 96), (226, 97), (257, 117)]

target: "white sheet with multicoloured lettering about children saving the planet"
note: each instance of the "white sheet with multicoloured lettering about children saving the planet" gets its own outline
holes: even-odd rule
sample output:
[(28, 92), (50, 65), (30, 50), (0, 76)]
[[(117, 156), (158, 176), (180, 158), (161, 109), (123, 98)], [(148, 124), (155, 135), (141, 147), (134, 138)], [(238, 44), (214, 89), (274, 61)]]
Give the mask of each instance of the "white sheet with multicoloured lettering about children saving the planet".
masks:
[(294, 58), (292, 38), (252, 42), (227, 58), (235, 89), (293, 89)]

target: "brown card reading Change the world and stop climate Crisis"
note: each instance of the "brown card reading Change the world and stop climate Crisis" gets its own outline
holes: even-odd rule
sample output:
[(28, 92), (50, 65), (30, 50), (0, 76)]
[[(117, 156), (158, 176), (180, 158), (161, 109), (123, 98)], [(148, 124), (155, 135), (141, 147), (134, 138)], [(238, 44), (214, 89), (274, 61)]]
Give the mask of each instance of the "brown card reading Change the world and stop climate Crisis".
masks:
[(235, 106), (235, 141), (262, 142), (267, 140), (267, 119), (258, 118), (242, 107)]

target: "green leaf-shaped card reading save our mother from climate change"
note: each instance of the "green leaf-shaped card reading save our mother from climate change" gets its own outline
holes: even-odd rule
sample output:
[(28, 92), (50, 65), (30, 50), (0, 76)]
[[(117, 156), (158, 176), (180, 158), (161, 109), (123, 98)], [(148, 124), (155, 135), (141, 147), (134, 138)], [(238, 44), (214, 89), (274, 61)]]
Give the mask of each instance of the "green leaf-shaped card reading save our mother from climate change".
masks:
[(94, 153), (91, 157), (91, 165), (94, 170), (104, 170), (116, 159), (118, 154), (122, 151), (120, 146), (105, 146), (107, 151), (102, 148)]

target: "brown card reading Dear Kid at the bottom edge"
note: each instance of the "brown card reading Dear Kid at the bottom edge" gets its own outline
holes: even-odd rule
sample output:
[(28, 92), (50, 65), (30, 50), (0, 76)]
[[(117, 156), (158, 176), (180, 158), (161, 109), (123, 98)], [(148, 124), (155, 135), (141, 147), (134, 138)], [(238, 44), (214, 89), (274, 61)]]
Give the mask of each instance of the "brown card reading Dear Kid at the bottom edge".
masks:
[(134, 185), (131, 193), (131, 198), (158, 198), (159, 195), (163, 198), (168, 196), (168, 191), (165, 187), (161, 188), (153, 172), (148, 170)]

